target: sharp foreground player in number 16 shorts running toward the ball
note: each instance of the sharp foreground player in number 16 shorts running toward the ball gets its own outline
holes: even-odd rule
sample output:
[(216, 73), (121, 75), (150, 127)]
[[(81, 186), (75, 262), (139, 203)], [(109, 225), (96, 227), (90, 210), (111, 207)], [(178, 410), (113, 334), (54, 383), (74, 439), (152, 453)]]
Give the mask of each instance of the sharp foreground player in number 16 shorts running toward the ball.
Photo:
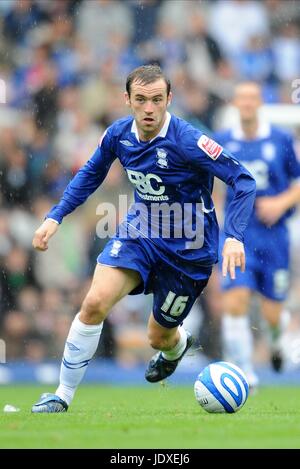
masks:
[(96, 351), (105, 317), (127, 294), (154, 295), (148, 337), (158, 352), (146, 379), (157, 382), (175, 371), (193, 341), (182, 322), (218, 258), (214, 176), (234, 192), (225, 222), (223, 273), (234, 278), (236, 266), (245, 268), (244, 230), (253, 209), (255, 181), (219, 144), (167, 112), (170, 88), (156, 65), (130, 73), (125, 99), (133, 116), (106, 130), (91, 159), (35, 232), (34, 248), (45, 251), (63, 217), (100, 186), (119, 158), (135, 188), (135, 203), (97, 258), (91, 288), (66, 340), (60, 384), (55, 394), (43, 394), (32, 412), (68, 409)]

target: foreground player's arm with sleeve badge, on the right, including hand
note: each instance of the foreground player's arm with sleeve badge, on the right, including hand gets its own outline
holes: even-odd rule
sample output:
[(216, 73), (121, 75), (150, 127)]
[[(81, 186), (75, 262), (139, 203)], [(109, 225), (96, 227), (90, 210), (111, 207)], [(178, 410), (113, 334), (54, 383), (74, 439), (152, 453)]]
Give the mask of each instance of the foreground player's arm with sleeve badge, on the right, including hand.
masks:
[(183, 138), (188, 163), (221, 179), (233, 189), (233, 199), (226, 211), (222, 272), (235, 278), (235, 268), (245, 270), (244, 231), (252, 214), (256, 184), (253, 176), (221, 145), (197, 130)]

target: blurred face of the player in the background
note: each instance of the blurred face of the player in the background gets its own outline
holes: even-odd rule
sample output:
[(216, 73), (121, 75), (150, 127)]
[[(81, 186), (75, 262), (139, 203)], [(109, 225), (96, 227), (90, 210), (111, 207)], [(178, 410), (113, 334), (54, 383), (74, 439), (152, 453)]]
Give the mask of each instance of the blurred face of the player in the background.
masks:
[(257, 118), (257, 112), (262, 104), (261, 92), (255, 83), (238, 85), (233, 104), (237, 107), (241, 121), (252, 121)]

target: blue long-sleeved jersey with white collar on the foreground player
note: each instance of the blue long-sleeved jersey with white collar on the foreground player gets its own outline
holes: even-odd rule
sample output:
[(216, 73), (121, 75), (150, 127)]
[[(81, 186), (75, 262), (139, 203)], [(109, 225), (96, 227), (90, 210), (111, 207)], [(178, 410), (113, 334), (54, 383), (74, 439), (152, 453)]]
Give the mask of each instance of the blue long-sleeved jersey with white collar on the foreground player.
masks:
[(118, 227), (122, 236), (146, 237), (162, 257), (175, 256), (179, 264), (214, 264), (219, 232), (211, 194), (216, 176), (233, 192), (226, 236), (243, 241), (255, 199), (252, 175), (221, 145), (169, 113), (159, 134), (149, 141), (139, 139), (132, 116), (112, 124), (47, 217), (61, 223), (101, 185), (115, 158), (135, 189), (135, 202)]

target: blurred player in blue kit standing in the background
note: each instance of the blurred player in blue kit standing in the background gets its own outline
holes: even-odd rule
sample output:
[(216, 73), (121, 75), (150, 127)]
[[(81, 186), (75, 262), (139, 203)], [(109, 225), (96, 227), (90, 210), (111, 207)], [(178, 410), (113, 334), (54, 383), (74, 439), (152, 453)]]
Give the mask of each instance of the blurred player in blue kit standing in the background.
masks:
[[(249, 384), (255, 387), (258, 378), (252, 364), (253, 337), (246, 313), (252, 294), (258, 293), (261, 312), (270, 329), (272, 365), (279, 371), (283, 302), (289, 287), (286, 221), (300, 201), (300, 165), (292, 138), (259, 116), (262, 97), (258, 84), (237, 85), (233, 104), (238, 110), (239, 124), (217, 133), (215, 138), (254, 176), (257, 197), (245, 233), (247, 272), (238, 271), (234, 282), (229, 278), (222, 282), (225, 311), (222, 336), (224, 357), (240, 366)], [(233, 196), (229, 188), (225, 213)]]

